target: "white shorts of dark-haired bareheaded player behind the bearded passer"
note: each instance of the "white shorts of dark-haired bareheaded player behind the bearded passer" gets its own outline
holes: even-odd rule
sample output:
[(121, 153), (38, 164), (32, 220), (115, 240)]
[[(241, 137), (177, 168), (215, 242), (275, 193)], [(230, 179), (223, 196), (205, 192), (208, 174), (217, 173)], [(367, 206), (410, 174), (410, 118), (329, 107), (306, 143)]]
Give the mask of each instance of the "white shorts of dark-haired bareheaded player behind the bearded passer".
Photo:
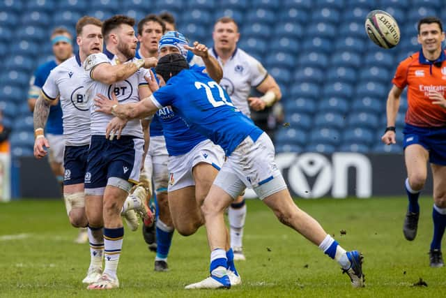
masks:
[(169, 179), (168, 163), (169, 154), (167, 153), (164, 136), (157, 135), (151, 137), (146, 160), (144, 161), (144, 171), (148, 181), (153, 179), (155, 193), (167, 192), (167, 181)]

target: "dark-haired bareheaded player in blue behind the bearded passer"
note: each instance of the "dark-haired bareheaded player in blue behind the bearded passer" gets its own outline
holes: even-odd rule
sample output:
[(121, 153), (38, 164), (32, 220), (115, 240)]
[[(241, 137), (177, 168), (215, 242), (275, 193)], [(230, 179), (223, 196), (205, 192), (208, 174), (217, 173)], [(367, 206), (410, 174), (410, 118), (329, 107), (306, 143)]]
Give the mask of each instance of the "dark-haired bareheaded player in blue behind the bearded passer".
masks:
[[(157, 15), (147, 15), (138, 23), (139, 50), (137, 58), (155, 58), (158, 57), (158, 45), (160, 38), (164, 34), (164, 22)], [(171, 238), (174, 233), (174, 225), (171, 221), (169, 203), (167, 202), (167, 181), (169, 179), (169, 170), (167, 163), (169, 154), (167, 154), (166, 141), (162, 133), (162, 126), (159, 116), (155, 114), (150, 122), (142, 120), (145, 135), (150, 135), (150, 142), (146, 159), (144, 161), (143, 175), (141, 182), (147, 188), (146, 204), (155, 190), (156, 219), (155, 225), (144, 221), (142, 229), (144, 240), (151, 251), (156, 251), (155, 271), (167, 270), (167, 262), (160, 262), (167, 258), (171, 244)], [(148, 132), (146, 131), (148, 129)]]

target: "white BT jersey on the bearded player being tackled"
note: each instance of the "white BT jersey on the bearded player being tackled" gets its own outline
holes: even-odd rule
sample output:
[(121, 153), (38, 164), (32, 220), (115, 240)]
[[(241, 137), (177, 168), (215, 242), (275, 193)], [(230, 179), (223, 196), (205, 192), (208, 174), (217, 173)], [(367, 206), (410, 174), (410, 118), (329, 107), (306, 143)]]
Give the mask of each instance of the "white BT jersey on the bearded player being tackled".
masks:
[[(129, 60), (125, 63), (134, 61)], [(148, 70), (145, 68), (139, 68), (136, 73), (128, 77), (126, 80), (116, 82), (108, 85), (99, 81), (95, 81), (91, 78), (91, 70), (102, 63), (109, 63), (112, 65), (118, 64), (118, 59), (114, 54), (104, 50), (104, 53), (91, 54), (84, 61), (84, 84), (85, 84), (85, 96), (90, 103), (91, 113), (91, 135), (105, 135), (105, 130), (109, 121), (114, 118), (112, 115), (104, 114), (102, 112), (95, 112), (94, 98), (96, 94), (102, 94), (103, 96), (112, 99), (112, 92), (118, 98), (119, 103), (137, 103), (139, 101), (138, 88), (141, 85), (148, 85), (144, 75), (150, 76)], [(141, 121), (139, 119), (132, 119), (128, 121), (121, 135), (132, 135), (134, 137), (143, 137)]]

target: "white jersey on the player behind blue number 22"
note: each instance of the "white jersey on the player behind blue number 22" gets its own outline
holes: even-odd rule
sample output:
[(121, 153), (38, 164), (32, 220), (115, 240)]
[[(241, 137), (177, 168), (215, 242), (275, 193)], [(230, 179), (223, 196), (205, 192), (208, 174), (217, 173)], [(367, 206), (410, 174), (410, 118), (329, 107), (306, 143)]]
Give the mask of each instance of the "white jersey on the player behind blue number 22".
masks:
[(226, 64), (222, 64), (214, 48), (209, 49), (209, 54), (213, 55), (223, 68), (220, 86), (226, 89), (238, 110), (247, 117), (251, 117), (248, 103), (249, 91), (251, 87), (259, 86), (266, 79), (268, 72), (259, 61), (238, 47)]

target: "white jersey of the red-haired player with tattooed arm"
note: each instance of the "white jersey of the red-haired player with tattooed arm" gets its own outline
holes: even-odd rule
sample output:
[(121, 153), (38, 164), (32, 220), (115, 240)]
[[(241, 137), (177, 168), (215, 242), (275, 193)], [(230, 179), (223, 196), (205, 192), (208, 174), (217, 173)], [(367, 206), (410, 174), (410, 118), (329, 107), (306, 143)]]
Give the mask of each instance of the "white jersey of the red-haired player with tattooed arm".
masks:
[(59, 96), (63, 112), (63, 137), (68, 146), (90, 143), (90, 110), (85, 96), (84, 68), (79, 53), (51, 70), (42, 87), (47, 100)]

